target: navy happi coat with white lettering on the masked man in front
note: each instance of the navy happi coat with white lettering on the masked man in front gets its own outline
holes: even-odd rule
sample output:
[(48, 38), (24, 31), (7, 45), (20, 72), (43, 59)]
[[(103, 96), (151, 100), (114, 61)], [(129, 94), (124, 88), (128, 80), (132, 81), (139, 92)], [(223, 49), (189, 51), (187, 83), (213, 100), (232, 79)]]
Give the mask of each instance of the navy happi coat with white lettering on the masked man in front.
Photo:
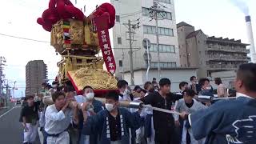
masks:
[[(121, 143), (130, 144), (129, 128), (131, 130), (137, 130), (141, 126), (142, 120), (138, 112), (132, 114), (124, 108), (118, 108), (118, 113), (120, 115), (122, 130)], [(83, 126), (82, 134), (98, 134), (98, 144), (110, 144), (109, 123), (109, 112), (107, 110), (102, 110), (98, 114), (87, 119), (86, 125)]]

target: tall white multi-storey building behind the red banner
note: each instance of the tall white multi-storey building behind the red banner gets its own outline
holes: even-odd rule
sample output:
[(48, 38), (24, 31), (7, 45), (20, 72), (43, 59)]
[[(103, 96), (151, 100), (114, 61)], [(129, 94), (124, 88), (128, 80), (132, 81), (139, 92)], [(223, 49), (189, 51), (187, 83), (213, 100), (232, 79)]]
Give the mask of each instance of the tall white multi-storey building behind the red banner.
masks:
[[(86, 3), (88, 1), (82, 2)], [(158, 2), (158, 6), (164, 10), (159, 14), (160, 20), (158, 21), (162, 78), (170, 78), (171, 80), (174, 77), (180, 78), (181, 74), (178, 74), (180, 71), (182, 71), (182, 77), (186, 78), (187, 81), (189, 81), (191, 75), (196, 75), (195, 68), (190, 68), (189, 70), (180, 68), (174, 0), (154, 0), (154, 2), (153, 0), (110, 0), (109, 2), (114, 5), (116, 10), (116, 24), (113, 28), (112, 47), (117, 64), (116, 76), (118, 78), (124, 78), (130, 83), (130, 57), (128, 53), (130, 51), (130, 42), (127, 27), (129, 20), (133, 26), (136, 27), (137, 24), (140, 26), (135, 30), (132, 29), (134, 30), (132, 34), (134, 84), (142, 85), (143, 82), (146, 82), (147, 62), (143, 58), (146, 50), (142, 46), (144, 38), (150, 39), (151, 42), (150, 54), (152, 59), (149, 79), (158, 78), (156, 22), (154, 19), (151, 20), (149, 10), (154, 2)], [(100, 5), (101, 3), (97, 4)], [(85, 5), (78, 3), (77, 6), (83, 10)], [(177, 82), (181, 82), (181, 80), (177, 79)]]

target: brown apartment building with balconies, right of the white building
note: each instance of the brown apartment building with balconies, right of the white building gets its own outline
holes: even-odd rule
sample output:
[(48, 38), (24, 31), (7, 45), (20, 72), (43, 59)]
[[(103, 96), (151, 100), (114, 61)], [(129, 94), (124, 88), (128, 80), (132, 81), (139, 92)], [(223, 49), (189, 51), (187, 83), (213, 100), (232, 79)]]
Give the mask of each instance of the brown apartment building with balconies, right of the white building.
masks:
[(241, 40), (208, 37), (186, 22), (178, 23), (177, 28), (180, 64), (198, 67), (198, 78), (211, 77), (213, 72), (236, 70), (240, 64), (250, 61), (248, 44)]

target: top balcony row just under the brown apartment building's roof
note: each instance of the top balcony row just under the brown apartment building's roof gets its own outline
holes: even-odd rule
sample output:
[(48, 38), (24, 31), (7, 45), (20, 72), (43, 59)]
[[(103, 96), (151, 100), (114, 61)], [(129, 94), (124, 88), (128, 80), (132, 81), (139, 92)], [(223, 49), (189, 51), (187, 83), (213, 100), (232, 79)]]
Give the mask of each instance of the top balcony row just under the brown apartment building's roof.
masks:
[(218, 45), (208, 45), (208, 51), (223, 51), (223, 52), (230, 52), (230, 53), (250, 53), (250, 50), (241, 47), (231, 47), (231, 46), (218, 46)]

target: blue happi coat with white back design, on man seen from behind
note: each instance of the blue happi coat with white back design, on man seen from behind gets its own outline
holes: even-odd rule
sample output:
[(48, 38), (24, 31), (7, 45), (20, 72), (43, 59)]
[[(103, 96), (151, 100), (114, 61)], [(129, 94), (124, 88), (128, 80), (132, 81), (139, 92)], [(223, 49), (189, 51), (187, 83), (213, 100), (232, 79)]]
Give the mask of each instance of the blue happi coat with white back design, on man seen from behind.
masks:
[(206, 144), (256, 144), (256, 99), (238, 97), (216, 102), (190, 115), (194, 138)]

